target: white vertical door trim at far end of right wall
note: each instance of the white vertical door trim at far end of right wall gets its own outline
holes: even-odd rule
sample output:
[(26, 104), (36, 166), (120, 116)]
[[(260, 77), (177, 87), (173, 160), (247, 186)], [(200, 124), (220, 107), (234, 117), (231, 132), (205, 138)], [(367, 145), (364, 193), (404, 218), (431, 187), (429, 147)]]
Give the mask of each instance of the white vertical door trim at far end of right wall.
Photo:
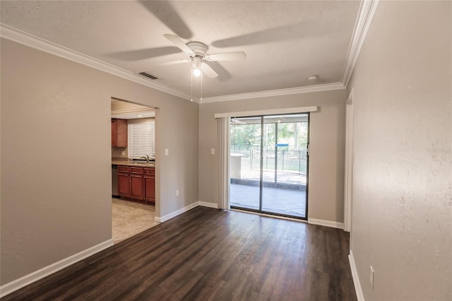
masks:
[[(353, 90), (345, 103), (345, 175), (344, 175), (344, 230), (352, 230), (353, 187)], [(350, 239), (351, 241), (351, 239)]]

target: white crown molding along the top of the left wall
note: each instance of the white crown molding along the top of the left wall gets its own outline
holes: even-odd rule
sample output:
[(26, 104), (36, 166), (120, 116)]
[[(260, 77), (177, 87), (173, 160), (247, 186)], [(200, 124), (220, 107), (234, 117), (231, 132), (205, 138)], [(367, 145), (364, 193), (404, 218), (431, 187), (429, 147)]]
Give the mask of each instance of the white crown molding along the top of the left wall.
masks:
[(18, 30), (16, 28), (12, 28), (11, 26), (5, 25), (3, 23), (0, 23), (0, 37), (21, 45), (40, 50), (42, 52), (47, 52), (48, 54), (67, 59), (69, 61), (76, 62), (78, 64), (88, 66), (93, 69), (110, 73), (114, 76), (119, 76), (120, 78), (124, 78), (128, 81), (133, 81), (135, 83), (154, 88), (155, 90), (159, 90), (177, 96), (179, 98), (191, 100), (190, 95), (187, 95), (186, 93), (183, 93), (179, 90), (169, 88), (167, 85), (152, 82), (149, 79), (143, 78), (142, 76), (131, 71), (121, 69), (117, 66), (113, 66), (112, 64), (107, 64), (104, 61), (100, 61), (99, 59), (95, 59), (93, 57), (88, 57), (88, 55), (41, 39), (40, 37), (36, 37), (35, 35), (30, 35), (29, 33), (25, 33), (22, 30)]

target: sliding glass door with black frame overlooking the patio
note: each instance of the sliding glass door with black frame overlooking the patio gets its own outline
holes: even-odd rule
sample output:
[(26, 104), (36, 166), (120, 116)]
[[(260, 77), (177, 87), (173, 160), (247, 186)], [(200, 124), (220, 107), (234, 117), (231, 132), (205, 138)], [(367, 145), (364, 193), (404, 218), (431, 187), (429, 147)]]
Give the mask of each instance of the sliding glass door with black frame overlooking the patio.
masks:
[(230, 207), (307, 219), (309, 113), (231, 118)]

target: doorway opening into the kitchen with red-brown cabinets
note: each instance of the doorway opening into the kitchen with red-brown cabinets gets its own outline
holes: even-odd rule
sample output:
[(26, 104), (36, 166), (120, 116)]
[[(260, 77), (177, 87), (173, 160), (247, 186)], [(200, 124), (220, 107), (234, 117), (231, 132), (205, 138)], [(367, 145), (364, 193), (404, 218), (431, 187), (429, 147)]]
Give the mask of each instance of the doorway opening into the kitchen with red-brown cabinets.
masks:
[(155, 222), (155, 108), (112, 98), (112, 238)]

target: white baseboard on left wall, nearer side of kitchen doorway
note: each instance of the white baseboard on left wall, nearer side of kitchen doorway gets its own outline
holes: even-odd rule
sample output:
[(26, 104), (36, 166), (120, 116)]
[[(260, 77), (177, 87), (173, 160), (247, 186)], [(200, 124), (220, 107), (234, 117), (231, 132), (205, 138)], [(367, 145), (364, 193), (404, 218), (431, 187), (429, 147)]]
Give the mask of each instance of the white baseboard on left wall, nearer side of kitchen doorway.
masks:
[(1, 285), (0, 287), (0, 297), (4, 297), (19, 288), (23, 288), (26, 285), (29, 285), (35, 281), (38, 281), (46, 276), (49, 276), (52, 273), (55, 273), (66, 266), (70, 266), (71, 264), (75, 264), (78, 261), (81, 261), (97, 252), (102, 251), (103, 249), (107, 249), (108, 247), (112, 247), (113, 240), (109, 239), (105, 242), (101, 242), (100, 244), (96, 244), (94, 247), (90, 247), (89, 249), (85, 249), (82, 252), (78, 252), (77, 254), (73, 254), (65, 259), (55, 262), (49, 266), (45, 266), (44, 268), (40, 268), (37, 271), (29, 273), (23, 277), (20, 277), (10, 283), (6, 283), (5, 285)]

